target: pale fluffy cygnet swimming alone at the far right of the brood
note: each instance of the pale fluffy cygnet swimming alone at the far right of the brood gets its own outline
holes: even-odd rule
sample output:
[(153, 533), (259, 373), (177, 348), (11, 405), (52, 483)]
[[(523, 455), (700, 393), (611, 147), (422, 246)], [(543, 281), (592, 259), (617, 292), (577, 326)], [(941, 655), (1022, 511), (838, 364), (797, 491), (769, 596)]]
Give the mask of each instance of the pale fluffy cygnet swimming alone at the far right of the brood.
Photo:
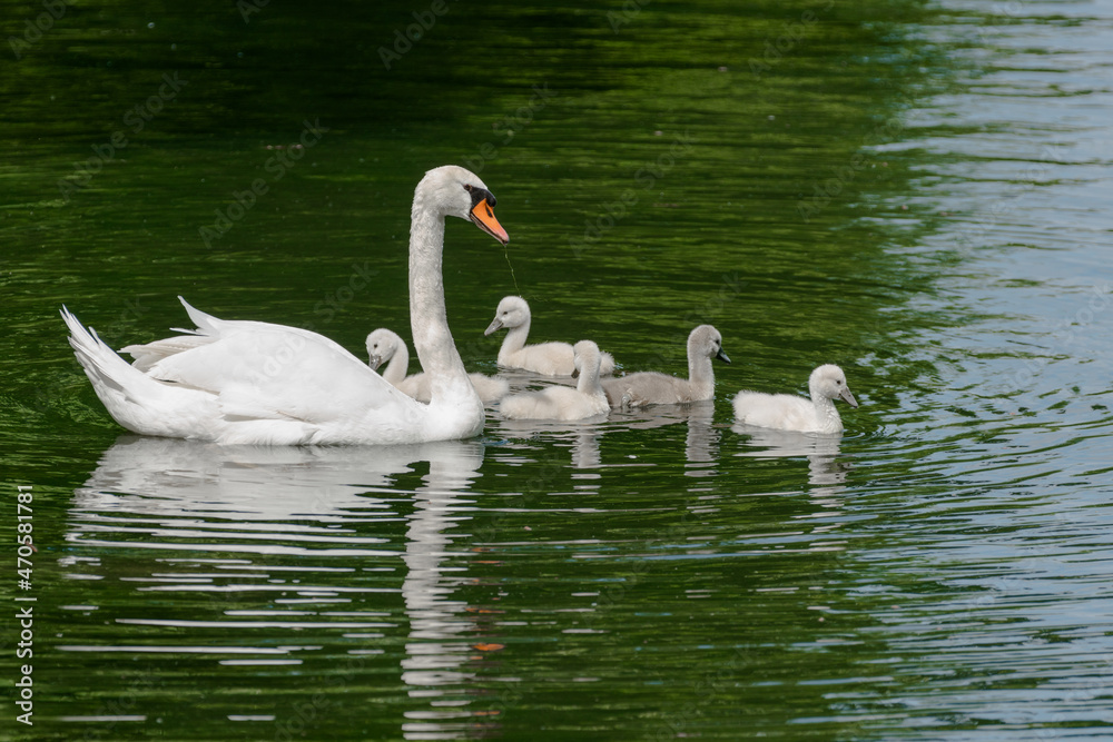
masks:
[(841, 397), (851, 407), (858, 406), (843, 369), (833, 364), (820, 366), (811, 372), (808, 388), (811, 399), (792, 394), (739, 392), (733, 403), (735, 419), (778, 431), (841, 433), (843, 418), (835, 408), (835, 398)]

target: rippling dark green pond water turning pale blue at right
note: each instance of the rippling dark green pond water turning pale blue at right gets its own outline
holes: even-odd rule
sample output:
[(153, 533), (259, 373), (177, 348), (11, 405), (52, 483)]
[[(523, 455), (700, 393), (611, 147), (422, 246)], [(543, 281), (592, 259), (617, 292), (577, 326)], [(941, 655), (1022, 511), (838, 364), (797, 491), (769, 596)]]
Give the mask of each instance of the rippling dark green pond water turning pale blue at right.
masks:
[[(847, 4), (3, 2), (0, 534), (30, 487), (38, 552), (0, 738), (1109, 739), (1113, 6)], [(121, 435), (62, 304), (114, 347), (183, 295), (363, 355), (408, 337), (446, 162), (511, 235), (447, 230), (470, 368), (522, 294), (630, 370), (713, 324), (713, 405)], [(828, 362), (840, 441), (732, 426)]]

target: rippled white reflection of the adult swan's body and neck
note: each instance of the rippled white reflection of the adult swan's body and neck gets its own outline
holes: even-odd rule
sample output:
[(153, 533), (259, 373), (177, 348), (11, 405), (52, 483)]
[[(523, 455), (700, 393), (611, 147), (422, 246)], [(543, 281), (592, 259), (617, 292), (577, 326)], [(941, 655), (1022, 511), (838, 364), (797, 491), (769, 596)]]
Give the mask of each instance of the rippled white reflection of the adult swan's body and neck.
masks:
[[(144, 617), (134, 617), (135, 605), (122, 616), (112, 616), (152, 631), (174, 627), (174, 633), (165, 634), (162, 649), (170, 656), (176, 646), (189, 651), (209, 641), (214, 629), (258, 632), (245, 626), (255, 623), (250, 616), (264, 616), (270, 636), (288, 639), (265, 646), (237, 645), (237, 652), (248, 655), (246, 662), (255, 660), (253, 654), (286, 654), (290, 664), (302, 653), (312, 655), (321, 649), (304, 645), (298, 632), (306, 622), (319, 622), (314, 625), (326, 632), (381, 627), (385, 607), (396, 601), (390, 597), (395, 590), (380, 586), (378, 581), (370, 586), (365, 577), (348, 575), (372, 565), (381, 570), (392, 562), (405, 565), (401, 594), (410, 626), (402, 680), (415, 700), (430, 706), (407, 712), (401, 736), (429, 739), (429, 733), (453, 725), (450, 716), (467, 716), (466, 706), (476, 695), (467, 686), (473, 673), (465, 669), (475, 652), (469, 641), (475, 624), (466, 604), (452, 598), (469, 580), (466, 561), (457, 557), (451, 568), (443, 563), (452, 555), (451, 531), (464, 509), (461, 493), (479, 476), (483, 454), (483, 445), (472, 441), (368, 451), (219, 446), (126, 436), (105, 452), (88, 482), (76, 491), (66, 558), (69, 564), (89, 564), (95, 555), (95, 566), (86, 570), (101, 578), (127, 580), (137, 591), (188, 590), (213, 598), (201, 607), (195, 597), (175, 604), (189, 611), (185, 617), (180, 611), (169, 617), (158, 614), (158, 606), (173, 598), (144, 604)], [(397, 475), (420, 468), (414, 466), (418, 462), (429, 462), (429, 473), (412, 493), (412, 513), (404, 516), (401, 511), (408, 509), (411, 499), (394, 482)], [(396, 524), (403, 518), (405, 545), (400, 550)], [(136, 558), (144, 550), (157, 556)], [(177, 556), (190, 552), (196, 556)], [(337, 564), (328, 557), (342, 558)], [(179, 563), (187, 566), (176, 570)], [(204, 567), (198, 570), (198, 563)], [(227, 568), (224, 580), (221, 567)], [(290, 593), (295, 600), (276, 600)], [(105, 613), (111, 610), (102, 607)], [(337, 616), (343, 620), (336, 621)], [(349, 641), (338, 646), (351, 647), (357, 635), (347, 636)], [(60, 649), (112, 647), (112, 640), (104, 641), (97, 647)], [(367, 641), (374, 647), (377, 640)], [(367, 652), (381, 651), (356, 647), (353, 655), (361, 660)], [(378, 666), (388, 662), (384, 659)], [(446, 711), (443, 702), (450, 695), (452, 711)], [(280, 712), (277, 721), (285, 721), (288, 713)]]

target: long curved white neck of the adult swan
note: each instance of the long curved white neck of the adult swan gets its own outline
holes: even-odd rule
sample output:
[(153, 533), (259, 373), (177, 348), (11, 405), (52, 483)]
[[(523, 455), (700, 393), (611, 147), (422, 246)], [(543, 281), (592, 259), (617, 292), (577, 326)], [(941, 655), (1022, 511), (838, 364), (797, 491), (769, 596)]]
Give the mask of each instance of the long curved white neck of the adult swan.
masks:
[[(426, 204), (426, 195), (414, 195), (410, 225), (410, 325), (414, 350), (422, 369), (429, 374), (434, 399), (449, 393), (459, 382), (472, 388), (456, 346), (449, 332), (444, 308), (444, 280), (441, 253), (444, 249), (444, 216)], [(472, 389), (474, 394), (474, 389)]]

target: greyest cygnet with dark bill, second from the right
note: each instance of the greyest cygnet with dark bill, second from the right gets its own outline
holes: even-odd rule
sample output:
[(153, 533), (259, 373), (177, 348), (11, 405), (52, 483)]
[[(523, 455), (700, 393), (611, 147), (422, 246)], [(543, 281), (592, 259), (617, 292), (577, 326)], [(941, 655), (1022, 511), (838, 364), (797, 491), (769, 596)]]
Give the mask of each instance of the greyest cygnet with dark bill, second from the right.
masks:
[(722, 336), (711, 325), (700, 325), (688, 335), (688, 378), (658, 372), (639, 372), (603, 379), (611, 407), (678, 405), (703, 402), (715, 396), (711, 359), (730, 363), (722, 352)]

